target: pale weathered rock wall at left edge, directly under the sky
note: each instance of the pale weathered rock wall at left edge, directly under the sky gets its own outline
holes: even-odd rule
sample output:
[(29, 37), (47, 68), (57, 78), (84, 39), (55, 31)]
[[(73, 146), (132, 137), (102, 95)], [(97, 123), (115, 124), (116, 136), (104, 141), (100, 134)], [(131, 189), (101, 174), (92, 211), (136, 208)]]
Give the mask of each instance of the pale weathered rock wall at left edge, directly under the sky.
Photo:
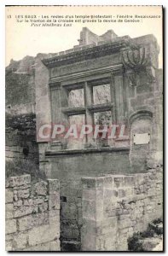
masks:
[(14, 114), (34, 113), (35, 84), (33, 65), (35, 58), (24, 57), (21, 61), (11, 61), (6, 67), (6, 108)]

